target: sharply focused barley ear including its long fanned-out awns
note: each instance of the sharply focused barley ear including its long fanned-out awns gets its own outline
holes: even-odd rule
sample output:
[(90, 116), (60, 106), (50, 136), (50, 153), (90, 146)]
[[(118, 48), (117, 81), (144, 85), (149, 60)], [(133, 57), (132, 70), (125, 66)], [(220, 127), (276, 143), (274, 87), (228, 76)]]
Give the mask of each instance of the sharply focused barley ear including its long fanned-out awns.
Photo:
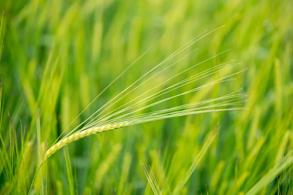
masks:
[[(81, 139), (85, 136), (102, 133), (112, 129), (117, 129), (117, 128), (121, 128), (128, 125), (134, 125), (134, 124), (144, 123), (148, 121), (155, 121), (155, 120), (160, 120), (160, 119), (165, 119), (170, 117), (180, 117), (180, 116), (194, 115), (199, 113), (244, 109), (243, 107), (239, 107), (239, 106), (242, 105), (243, 102), (245, 102), (245, 100), (241, 100), (241, 99), (248, 96), (248, 94), (247, 93), (238, 94), (240, 90), (233, 92), (231, 94), (221, 96), (219, 98), (205, 99), (198, 102), (177, 105), (171, 108), (165, 108), (161, 110), (154, 109), (156, 105), (167, 102), (168, 100), (182, 97), (190, 93), (198, 92), (200, 90), (204, 90), (205, 88), (208, 90), (213, 85), (217, 85), (222, 82), (235, 80), (236, 78), (232, 78), (232, 77), (243, 72), (245, 69), (240, 70), (236, 73), (226, 74), (225, 72), (227, 71), (227, 69), (233, 66), (239, 65), (239, 63), (231, 64), (231, 62), (234, 61), (234, 59), (232, 59), (230, 61), (226, 61), (216, 66), (213, 66), (211, 68), (208, 68), (197, 74), (193, 74), (191, 72), (192, 73), (191, 76), (183, 80), (180, 80), (179, 82), (173, 83), (174, 81), (176, 81), (175, 79), (178, 76), (180, 75), (182, 76), (182, 74), (186, 74), (189, 70), (194, 69), (195, 67), (201, 64), (204, 64), (205, 62), (208, 62), (209, 60), (214, 59), (220, 56), (221, 54), (224, 54), (230, 51), (230, 49), (220, 52), (201, 62), (195, 63), (191, 67), (187, 67), (186, 69), (180, 70), (178, 73), (174, 72), (174, 74), (171, 74), (171, 77), (167, 77), (166, 80), (164, 80), (163, 82), (159, 83), (156, 86), (152, 86), (152, 85), (150, 85), (150, 87), (147, 86), (147, 84), (152, 82), (154, 79), (158, 78), (159, 76), (162, 76), (163, 74), (167, 72), (167, 70), (170, 70), (171, 67), (174, 67), (181, 60), (187, 58), (193, 52), (198, 50), (198, 48), (196, 48), (192, 50), (190, 53), (188, 53), (187, 55), (183, 55), (184, 54), (183, 52), (187, 50), (188, 48), (191, 48), (191, 46), (195, 42), (197, 42), (200, 39), (203, 39), (204, 37), (208, 36), (209, 34), (215, 32), (216, 30), (222, 27), (223, 26), (215, 30), (212, 30), (210, 32), (207, 32), (207, 30), (204, 31), (197, 37), (191, 39), (186, 44), (181, 46), (179, 49), (173, 52), (166, 59), (164, 59), (157, 65), (155, 65), (153, 68), (147, 71), (142, 77), (138, 78), (128, 87), (126, 87), (126, 89), (124, 89), (114, 98), (111, 98), (102, 107), (97, 109), (90, 117), (85, 119), (77, 127), (71, 130), (59, 142), (57, 143), (54, 142), (53, 146), (47, 150), (44, 156), (44, 159), (48, 158), (49, 156), (54, 154), (56, 151), (60, 150), (62, 147), (71, 143), (72, 141)], [(142, 56), (144, 56), (145, 54), (146, 52)], [(141, 57), (139, 57), (139, 59)], [(175, 57), (178, 59), (174, 59)], [(175, 62), (171, 61), (171, 59), (175, 60)], [(169, 63), (166, 63), (168, 61)], [(129, 65), (126, 68), (126, 70), (128, 70), (133, 64), (134, 63)], [(120, 78), (126, 72), (126, 70), (123, 71), (123, 73), (120, 74), (117, 78), (115, 78), (114, 81)], [(220, 74), (221, 76), (220, 78), (218, 78), (217, 76), (218, 74)], [(205, 84), (197, 85), (198, 83), (200, 83), (199, 80), (201, 79), (204, 80), (208, 78), (209, 76), (211, 76), (212, 78), (216, 77), (217, 79), (213, 79), (211, 81), (209, 80), (209, 82)], [(100, 95), (114, 81), (112, 81), (96, 98), (94, 98), (94, 100), (100, 97)], [(143, 93), (139, 94), (137, 97), (134, 96), (131, 99), (127, 99), (126, 103), (124, 103), (123, 105), (118, 105), (118, 102), (120, 102), (122, 99), (125, 100), (125, 98), (129, 94), (135, 95), (135, 92), (137, 92), (138, 89), (142, 89), (143, 87), (145, 87), (144, 89), (146, 89)], [(163, 89), (161, 89), (161, 87)], [(184, 87), (187, 87), (188, 90), (185, 91)], [(174, 92), (176, 92), (177, 89), (179, 89), (178, 90), (179, 93), (173, 94)], [(93, 101), (90, 104), (92, 104)], [(88, 108), (89, 105), (86, 108)], [(117, 107), (114, 107), (114, 106), (117, 106)], [(110, 110), (110, 107), (112, 107), (113, 109)], [(146, 111), (148, 108), (154, 109), (154, 111), (141, 113), (141, 111)], [(84, 112), (84, 110), (74, 119), (74, 121)], [(84, 123), (87, 123), (87, 124), (85, 124), (84, 127), (81, 128), (80, 130), (78, 130)], [(72, 123), (70, 123), (70, 125), (71, 124)], [(63, 133), (69, 128), (69, 126), (63, 131)], [(60, 135), (60, 137), (63, 135), (63, 133)]]

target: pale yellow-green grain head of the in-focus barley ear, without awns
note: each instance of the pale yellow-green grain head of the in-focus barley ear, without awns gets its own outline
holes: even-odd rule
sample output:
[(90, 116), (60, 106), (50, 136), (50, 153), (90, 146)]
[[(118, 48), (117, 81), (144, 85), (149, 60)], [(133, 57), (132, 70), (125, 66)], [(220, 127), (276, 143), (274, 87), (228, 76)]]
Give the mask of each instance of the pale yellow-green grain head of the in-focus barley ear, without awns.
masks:
[(63, 148), (65, 145), (71, 143), (72, 141), (76, 141), (78, 139), (81, 139), (83, 137), (87, 137), (87, 136), (90, 136), (93, 134), (98, 134), (98, 133), (102, 133), (105, 131), (125, 127), (125, 126), (130, 125), (130, 123), (131, 122), (126, 121), (126, 122), (121, 122), (121, 123), (117, 123), (117, 124), (103, 125), (103, 126), (99, 126), (99, 127), (89, 128), (84, 131), (79, 131), (79, 132), (72, 134), (71, 136), (64, 137), (63, 139), (58, 141), (56, 144), (54, 144), (51, 148), (49, 148), (47, 150), (45, 157), (44, 157), (44, 160), (47, 159), (49, 156), (53, 155), (54, 153), (56, 153), (58, 150)]

